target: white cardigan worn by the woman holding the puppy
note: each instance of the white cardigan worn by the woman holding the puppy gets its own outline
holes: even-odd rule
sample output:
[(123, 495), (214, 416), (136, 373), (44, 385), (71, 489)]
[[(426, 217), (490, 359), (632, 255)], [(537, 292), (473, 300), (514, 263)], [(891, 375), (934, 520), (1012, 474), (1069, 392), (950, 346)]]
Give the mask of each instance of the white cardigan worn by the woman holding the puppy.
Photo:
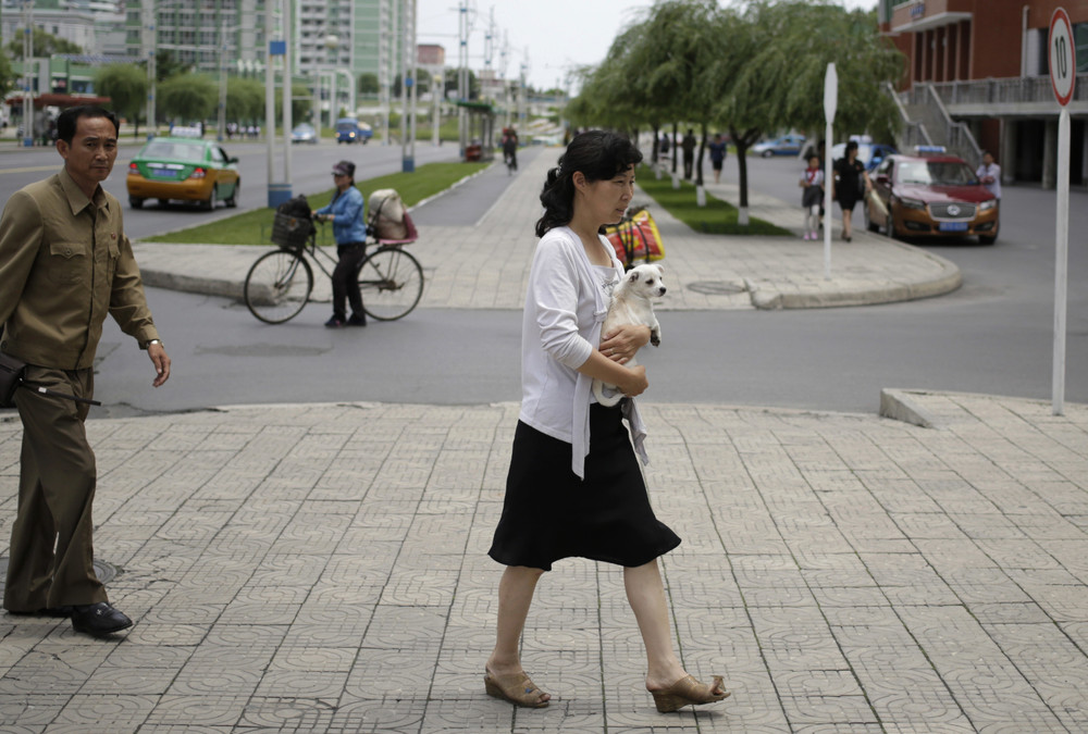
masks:
[[(617, 279), (623, 268), (608, 240), (601, 237)], [(569, 227), (556, 227), (536, 245), (521, 325), (521, 413), (527, 425), (571, 445), (571, 470), (585, 478), (590, 452), (590, 387), (578, 372), (601, 344), (608, 298)], [(643, 463), (646, 431), (633, 400), (623, 402), (634, 447)]]

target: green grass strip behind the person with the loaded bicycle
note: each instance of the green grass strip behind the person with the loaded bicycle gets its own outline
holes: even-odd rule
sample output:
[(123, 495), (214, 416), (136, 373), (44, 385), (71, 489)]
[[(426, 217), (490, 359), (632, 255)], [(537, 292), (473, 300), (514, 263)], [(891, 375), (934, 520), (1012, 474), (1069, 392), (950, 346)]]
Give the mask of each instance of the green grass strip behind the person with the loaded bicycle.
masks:
[[(356, 187), (368, 196), (381, 188), (396, 189), (406, 207), (413, 207), (423, 199), (446, 190), (462, 178), (486, 167), (490, 163), (428, 163), (416, 169), (415, 173), (391, 173), (356, 182)], [(330, 188), (317, 194), (307, 194), (306, 198), (313, 209), (320, 209), (333, 198)], [(369, 201), (369, 198), (368, 198)], [(272, 220), (275, 210), (269, 208), (255, 209), (208, 224), (171, 232), (164, 235), (145, 237), (148, 242), (199, 242), (201, 245), (268, 245), (272, 234)], [(327, 241), (326, 241), (327, 240)], [(320, 227), (319, 244), (332, 242), (332, 227)]]

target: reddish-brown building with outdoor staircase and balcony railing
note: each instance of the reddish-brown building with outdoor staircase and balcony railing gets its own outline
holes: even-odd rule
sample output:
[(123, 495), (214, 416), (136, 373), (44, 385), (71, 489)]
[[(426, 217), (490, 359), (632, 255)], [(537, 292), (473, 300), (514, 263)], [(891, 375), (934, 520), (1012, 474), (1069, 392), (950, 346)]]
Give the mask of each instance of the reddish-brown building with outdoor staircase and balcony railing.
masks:
[(1070, 176), (1088, 185), (1088, 2), (1081, 0), (880, 0), (881, 32), (906, 57), (895, 90), (900, 147), (944, 145), (972, 164), (994, 153), (1006, 182), (1056, 175), (1058, 114), (1047, 39), (1054, 10), (1073, 23), (1077, 78)]

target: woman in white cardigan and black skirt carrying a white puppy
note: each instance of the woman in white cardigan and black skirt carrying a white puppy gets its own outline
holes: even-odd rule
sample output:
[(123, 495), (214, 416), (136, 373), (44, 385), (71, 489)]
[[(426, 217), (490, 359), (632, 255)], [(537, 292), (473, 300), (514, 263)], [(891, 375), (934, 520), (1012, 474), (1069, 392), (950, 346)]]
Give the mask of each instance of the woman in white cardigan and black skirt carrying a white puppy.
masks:
[(634, 401), (605, 408), (590, 393), (595, 377), (629, 398), (648, 386), (644, 366), (623, 364), (650, 341), (650, 328), (627, 325), (601, 334), (623, 269), (598, 231), (622, 217), (641, 160), (626, 138), (583, 133), (548, 172), (541, 192), (545, 211), (536, 222), (541, 239), (522, 320), (521, 411), (503, 515), (489, 551), (507, 568), (484, 685), (516, 706), (542, 708), (551, 699), (522, 669), (519, 640), (536, 582), (553, 562), (570, 557), (623, 567), (628, 601), (646, 646), (646, 689), (658, 711), (729, 695), (719, 676), (705, 684), (688, 675), (672, 649), (657, 558), (680, 538), (650, 506), (635, 457), (638, 451), (646, 459)]

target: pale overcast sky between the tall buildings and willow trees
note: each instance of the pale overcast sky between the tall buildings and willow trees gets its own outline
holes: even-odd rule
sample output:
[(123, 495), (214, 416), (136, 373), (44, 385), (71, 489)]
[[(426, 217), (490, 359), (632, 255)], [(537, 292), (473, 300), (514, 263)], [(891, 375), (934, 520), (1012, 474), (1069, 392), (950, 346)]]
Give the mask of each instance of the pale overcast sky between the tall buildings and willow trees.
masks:
[[(446, 64), (457, 64), (459, 0), (417, 0), (420, 43), (446, 49)], [(846, 8), (871, 9), (877, 0), (839, 0)], [(653, 5), (652, 0), (469, 0), (473, 18), (469, 66), (484, 66), (484, 34), (494, 9), (497, 28), (492, 67), (502, 72), (499, 49), (508, 39), (506, 77), (515, 78), (528, 61), (529, 84), (537, 89), (564, 86), (568, 70), (599, 63), (616, 34)]]

